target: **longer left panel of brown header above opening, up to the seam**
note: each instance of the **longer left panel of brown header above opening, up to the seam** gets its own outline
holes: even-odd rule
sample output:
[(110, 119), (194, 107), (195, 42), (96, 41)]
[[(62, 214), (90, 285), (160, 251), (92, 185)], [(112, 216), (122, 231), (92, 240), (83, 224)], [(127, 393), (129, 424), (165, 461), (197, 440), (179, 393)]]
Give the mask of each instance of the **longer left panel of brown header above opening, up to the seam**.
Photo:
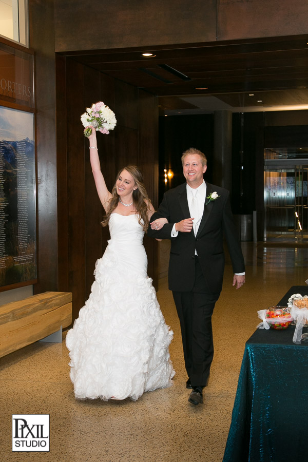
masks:
[[(216, 0), (54, 0), (56, 51), (216, 40)], [(93, 27), (93, 25), (99, 27)]]

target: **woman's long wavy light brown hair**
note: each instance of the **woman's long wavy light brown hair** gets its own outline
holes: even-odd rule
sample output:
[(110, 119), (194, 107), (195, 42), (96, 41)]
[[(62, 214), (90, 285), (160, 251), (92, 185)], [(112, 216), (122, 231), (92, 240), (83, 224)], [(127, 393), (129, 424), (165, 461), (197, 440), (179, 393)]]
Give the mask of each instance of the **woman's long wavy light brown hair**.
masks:
[[(117, 180), (123, 170), (128, 171), (128, 173), (132, 176), (137, 186), (137, 189), (134, 189), (132, 191), (132, 200), (133, 200), (133, 205), (136, 208), (137, 215), (139, 215), (138, 221), (142, 225), (144, 231), (146, 231), (149, 225), (147, 213), (148, 213), (151, 201), (147, 195), (145, 186), (143, 184), (143, 175), (138, 167), (136, 167), (135, 165), (128, 165), (127, 167), (121, 168), (121, 170), (119, 171), (117, 175)], [(119, 203), (120, 196), (117, 192), (117, 180), (115, 180), (114, 186), (111, 191), (112, 197), (109, 199), (108, 212), (106, 213), (105, 218), (102, 221), (103, 226), (108, 225), (110, 215), (112, 214), (113, 210), (117, 208), (118, 203)]]

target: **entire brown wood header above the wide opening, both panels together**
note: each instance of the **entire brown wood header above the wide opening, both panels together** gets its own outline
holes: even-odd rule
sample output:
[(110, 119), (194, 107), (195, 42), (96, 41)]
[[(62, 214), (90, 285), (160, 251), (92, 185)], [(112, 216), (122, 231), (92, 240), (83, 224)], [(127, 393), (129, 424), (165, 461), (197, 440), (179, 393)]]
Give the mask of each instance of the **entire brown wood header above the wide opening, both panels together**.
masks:
[[(303, 0), (54, 0), (55, 50), (217, 42), (307, 33)], [(93, 28), (93, 24), (100, 27)], [(103, 33), (102, 33), (103, 31)]]

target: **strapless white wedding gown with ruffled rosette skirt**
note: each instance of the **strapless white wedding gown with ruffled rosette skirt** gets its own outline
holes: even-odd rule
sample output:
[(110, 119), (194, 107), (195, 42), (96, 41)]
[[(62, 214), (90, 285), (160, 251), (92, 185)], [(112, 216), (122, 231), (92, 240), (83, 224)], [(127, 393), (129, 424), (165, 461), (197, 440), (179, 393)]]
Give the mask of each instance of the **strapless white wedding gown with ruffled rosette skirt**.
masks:
[(173, 332), (147, 277), (138, 216), (112, 213), (109, 230), (91, 294), (66, 336), (70, 378), (76, 398), (137, 400), (171, 386)]

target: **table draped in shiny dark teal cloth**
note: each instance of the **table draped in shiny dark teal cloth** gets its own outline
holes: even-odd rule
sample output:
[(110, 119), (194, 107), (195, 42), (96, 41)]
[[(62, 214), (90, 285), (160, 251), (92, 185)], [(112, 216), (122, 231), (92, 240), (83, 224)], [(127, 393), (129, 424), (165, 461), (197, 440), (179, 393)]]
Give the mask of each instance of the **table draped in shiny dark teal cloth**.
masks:
[[(277, 305), (297, 293), (308, 286)], [(223, 462), (308, 461), (308, 343), (293, 343), (294, 330), (257, 329), (247, 340)]]

